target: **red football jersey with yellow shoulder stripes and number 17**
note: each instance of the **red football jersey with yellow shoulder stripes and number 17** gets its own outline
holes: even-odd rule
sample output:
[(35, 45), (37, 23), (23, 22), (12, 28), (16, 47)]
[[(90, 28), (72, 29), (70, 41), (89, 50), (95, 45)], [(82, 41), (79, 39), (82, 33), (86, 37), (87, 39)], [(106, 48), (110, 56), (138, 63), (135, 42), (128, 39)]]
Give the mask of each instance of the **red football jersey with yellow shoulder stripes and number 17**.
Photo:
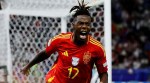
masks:
[(95, 63), (99, 73), (107, 72), (106, 55), (99, 41), (88, 36), (83, 46), (73, 43), (72, 33), (50, 39), (46, 53), (58, 52), (58, 58), (46, 75), (47, 83), (90, 83)]

